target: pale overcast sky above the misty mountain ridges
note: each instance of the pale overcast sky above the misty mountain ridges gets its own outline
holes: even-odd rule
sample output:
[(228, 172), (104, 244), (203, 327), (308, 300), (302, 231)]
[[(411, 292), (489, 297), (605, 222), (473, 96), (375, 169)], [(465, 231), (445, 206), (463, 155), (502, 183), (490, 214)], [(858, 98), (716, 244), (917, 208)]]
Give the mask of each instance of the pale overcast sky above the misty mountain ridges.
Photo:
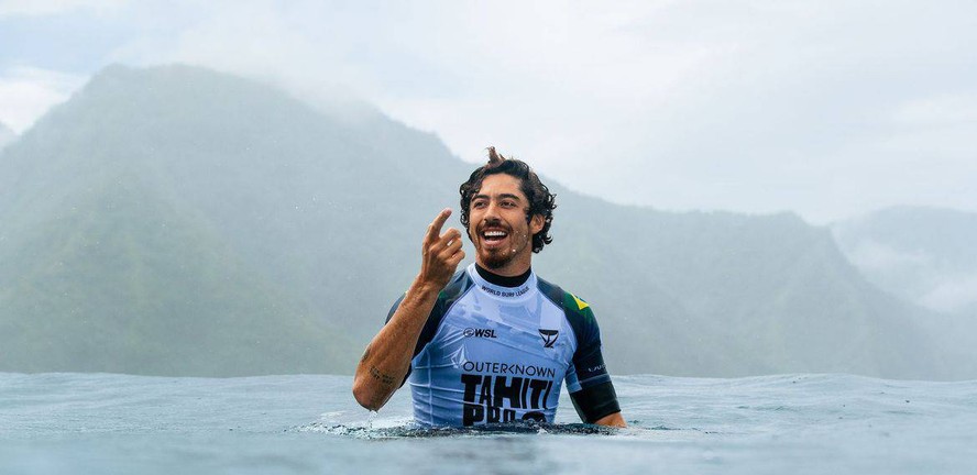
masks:
[(108, 64), (174, 62), (352, 93), (615, 202), (977, 211), (974, 1), (0, 0), (15, 132)]

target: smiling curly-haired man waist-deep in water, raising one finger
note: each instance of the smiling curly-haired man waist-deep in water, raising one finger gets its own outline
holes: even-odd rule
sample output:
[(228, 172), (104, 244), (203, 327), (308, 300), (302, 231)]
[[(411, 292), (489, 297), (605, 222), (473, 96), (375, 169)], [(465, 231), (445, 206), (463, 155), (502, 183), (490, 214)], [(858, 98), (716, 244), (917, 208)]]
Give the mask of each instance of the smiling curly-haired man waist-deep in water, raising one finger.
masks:
[(378, 410), (409, 375), (425, 426), (552, 422), (566, 379), (584, 422), (624, 427), (593, 312), (530, 268), (533, 253), (552, 242), (555, 195), (493, 147), (460, 192), (475, 263), (455, 273), (461, 233), (441, 234), (451, 210), (441, 211), (420, 274), (356, 367), (356, 401)]

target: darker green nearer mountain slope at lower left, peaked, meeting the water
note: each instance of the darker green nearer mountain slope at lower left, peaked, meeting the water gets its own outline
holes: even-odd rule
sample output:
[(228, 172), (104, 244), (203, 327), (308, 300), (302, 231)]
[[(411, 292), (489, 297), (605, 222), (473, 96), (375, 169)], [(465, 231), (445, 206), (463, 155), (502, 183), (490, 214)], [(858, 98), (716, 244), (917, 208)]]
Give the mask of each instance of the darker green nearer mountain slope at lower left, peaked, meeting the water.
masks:
[(21, 338), (3, 342), (0, 371), (340, 369), (343, 335), (255, 276), (193, 212), (133, 176), (94, 185), (4, 256), (18, 272), (0, 283), (0, 325)]

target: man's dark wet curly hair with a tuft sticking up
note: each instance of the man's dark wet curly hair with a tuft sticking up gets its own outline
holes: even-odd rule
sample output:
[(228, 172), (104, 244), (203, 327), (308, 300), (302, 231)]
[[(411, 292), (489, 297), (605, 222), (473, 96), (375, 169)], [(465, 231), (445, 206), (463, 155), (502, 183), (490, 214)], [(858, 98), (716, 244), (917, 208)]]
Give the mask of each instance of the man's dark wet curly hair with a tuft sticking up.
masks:
[[(536, 172), (529, 168), (525, 162), (506, 158), (495, 152), (495, 147), (488, 147), (488, 163), (472, 172), (468, 181), (461, 184), (458, 191), (461, 194), (461, 224), (465, 230), (469, 229), (469, 210), (472, 203), (472, 197), (482, 189), (482, 180), (488, 175), (506, 174), (516, 177), (522, 183), (519, 187), (526, 199), (529, 200), (529, 208), (526, 210), (526, 222), (533, 220), (533, 217), (540, 214), (544, 218), (542, 229), (533, 234), (533, 252), (542, 251), (542, 246), (553, 242), (550, 236), (549, 229), (553, 222), (553, 210), (557, 208), (557, 196), (549, 192), (549, 188), (539, 180)], [(471, 235), (469, 236), (471, 238)]]

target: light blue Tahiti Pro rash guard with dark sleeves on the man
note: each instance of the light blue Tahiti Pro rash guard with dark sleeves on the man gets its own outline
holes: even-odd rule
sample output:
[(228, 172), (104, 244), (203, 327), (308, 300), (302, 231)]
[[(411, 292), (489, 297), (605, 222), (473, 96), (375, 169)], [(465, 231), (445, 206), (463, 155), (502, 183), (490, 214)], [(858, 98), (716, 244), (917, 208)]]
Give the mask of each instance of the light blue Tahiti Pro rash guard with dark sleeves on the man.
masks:
[(590, 306), (534, 273), (492, 284), (474, 264), (438, 296), (407, 378), (414, 418), (429, 427), (552, 422), (564, 379), (583, 421), (619, 412)]

